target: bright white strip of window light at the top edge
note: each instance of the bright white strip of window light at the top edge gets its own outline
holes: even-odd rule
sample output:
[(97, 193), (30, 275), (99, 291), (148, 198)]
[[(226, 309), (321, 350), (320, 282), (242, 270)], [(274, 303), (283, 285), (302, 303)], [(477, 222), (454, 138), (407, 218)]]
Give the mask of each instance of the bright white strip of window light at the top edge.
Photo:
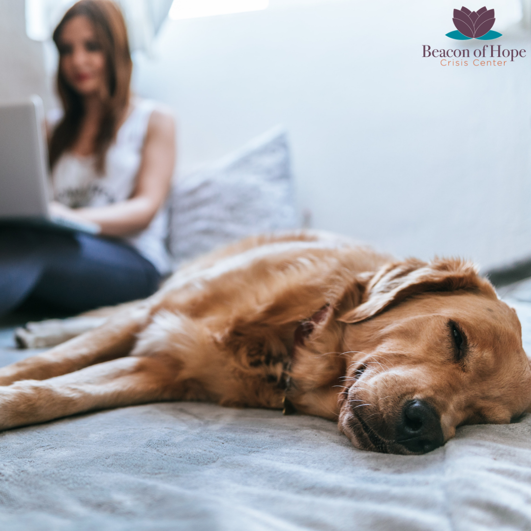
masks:
[(193, 19), (199, 16), (260, 11), (268, 5), (269, 0), (173, 0), (169, 18)]

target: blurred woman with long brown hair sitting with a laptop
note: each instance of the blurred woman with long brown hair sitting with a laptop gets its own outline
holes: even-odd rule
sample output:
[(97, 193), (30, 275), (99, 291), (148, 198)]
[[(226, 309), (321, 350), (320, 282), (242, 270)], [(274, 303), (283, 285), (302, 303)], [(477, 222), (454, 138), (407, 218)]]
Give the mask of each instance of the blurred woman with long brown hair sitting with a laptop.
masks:
[(27, 298), (80, 312), (146, 297), (169, 271), (174, 121), (131, 95), (123, 16), (110, 0), (81, 0), (53, 38), (63, 113), (48, 124), (51, 210), (99, 234), (1, 229), (0, 314)]

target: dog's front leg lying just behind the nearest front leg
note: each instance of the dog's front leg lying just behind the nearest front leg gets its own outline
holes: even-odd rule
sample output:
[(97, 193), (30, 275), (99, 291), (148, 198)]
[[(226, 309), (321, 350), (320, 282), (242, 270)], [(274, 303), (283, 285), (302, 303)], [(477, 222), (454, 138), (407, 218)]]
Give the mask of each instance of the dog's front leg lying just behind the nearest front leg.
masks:
[(141, 303), (110, 317), (101, 327), (37, 356), (0, 368), (0, 386), (18, 380), (45, 380), (89, 365), (126, 356), (146, 326), (150, 306)]

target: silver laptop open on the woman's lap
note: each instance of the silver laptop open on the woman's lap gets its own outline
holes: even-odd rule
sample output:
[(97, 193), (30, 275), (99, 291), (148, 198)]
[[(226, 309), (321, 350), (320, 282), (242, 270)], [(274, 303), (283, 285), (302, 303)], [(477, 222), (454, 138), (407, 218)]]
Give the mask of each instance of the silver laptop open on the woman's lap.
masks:
[(97, 234), (99, 226), (52, 216), (42, 100), (0, 105), (0, 225)]

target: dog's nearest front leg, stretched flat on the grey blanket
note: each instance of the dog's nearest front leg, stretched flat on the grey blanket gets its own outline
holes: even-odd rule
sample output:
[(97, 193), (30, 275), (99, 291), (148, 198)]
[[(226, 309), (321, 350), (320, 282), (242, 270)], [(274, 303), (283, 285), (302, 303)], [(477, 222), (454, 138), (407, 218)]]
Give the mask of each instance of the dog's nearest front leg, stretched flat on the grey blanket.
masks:
[(126, 356), (48, 380), (0, 387), (0, 430), (96, 409), (182, 396), (179, 364), (171, 357)]

